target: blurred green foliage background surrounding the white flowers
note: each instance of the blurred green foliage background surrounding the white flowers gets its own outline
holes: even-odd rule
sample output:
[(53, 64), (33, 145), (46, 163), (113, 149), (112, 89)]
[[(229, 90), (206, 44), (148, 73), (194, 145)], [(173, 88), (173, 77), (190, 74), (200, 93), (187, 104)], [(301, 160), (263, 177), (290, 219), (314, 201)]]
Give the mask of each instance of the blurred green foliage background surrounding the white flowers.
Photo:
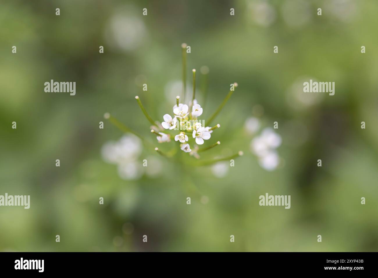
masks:
[[(0, 7), (0, 194), (31, 196), (29, 210), (0, 207), (0, 251), (378, 250), (377, 1), (3, 0)], [(204, 158), (244, 155), (214, 175), (211, 166), (183, 166), (143, 145), (137, 162), (147, 159), (152, 172), (121, 179), (101, 149), (122, 132), (103, 115), (157, 146), (134, 97), (155, 120), (172, 115), (184, 42), (188, 90), (192, 68), (210, 69), (204, 118), (229, 84), (239, 84), (213, 122), (221, 128), (212, 139), (222, 144)], [(335, 95), (303, 93), (310, 78), (334, 81)], [(75, 81), (76, 95), (45, 93), (50, 79)], [(203, 105), (201, 82), (198, 74)], [(250, 150), (251, 116), (261, 128), (279, 123), (274, 171)], [(291, 209), (260, 207), (265, 193), (291, 195)]]

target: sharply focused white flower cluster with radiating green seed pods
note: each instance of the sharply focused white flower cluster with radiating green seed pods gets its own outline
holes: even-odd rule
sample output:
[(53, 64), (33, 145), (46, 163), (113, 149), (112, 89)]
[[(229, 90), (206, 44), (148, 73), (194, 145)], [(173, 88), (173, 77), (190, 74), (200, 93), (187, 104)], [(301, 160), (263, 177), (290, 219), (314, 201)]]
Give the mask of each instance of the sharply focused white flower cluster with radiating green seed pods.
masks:
[[(186, 93), (186, 44), (181, 45), (182, 53), (183, 53), (183, 98), (185, 98)], [(156, 135), (156, 140), (158, 143), (167, 143), (171, 141), (171, 138), (174, 138), (176, 142), (180, 145), (180, 149), (184, 152), (189, 153), (189, 155), (200, 158), (198, 155), (199, 152), (203, 152), (214, 148), (220, 144), (220, 141), (216, 141), (215, 143), (206, 146), (204, 148), (200, 148), (200, 145), (204, 144), (205, 140), (209, 140), (211, 138), (212, 132), (214, 129), (220, 127), (220, 124), (217, 124), (213, 127), (206, 126), (204, 120), (200, 120), (199, 117), (203, 114), (203, 107), (197, 102), (195, 98), (195, 75), (196, 70), (193, 69), (193, 95), (191, 100), (187, 103), (180, 103), (180, 96), (176, 97), (176, 104), (172, 107), (172, 112), (163, 115), (163, 121), (154, 121), (151, 116), (147, 113), (146, 109), (144, 108), (139, 96), (135, 96), (135, 99), (142, 110), (144, 116), (146, 116), (147, 120), (151, 124), (151, 132)], [(209, 73), (209, 69), (206, 66), (201, 67), (201, 74), (202, 78), (204, 78), (204, 91), (203, 91), (203, 100), (206, 101), (207, 96), (207, 74)], [(231, 95), (234, 93), (235, 87), (237, 87), (237, 83), (230, 84), (229, 93), (223, 99), (223, 102), (219, 105), (218, 109), (215, 110), (214, 113), (208, 118), (206, 123), (209, 125), (220, 113), (222, 108), (225, 106)], [(124, 124), (120, 123), (114, 116), (110, 115), (110, 113), (105, 113), (104, 118), (109, 120), (112, 124), (118, 127), (123, 132), (129, 132), (137, 137), (139, 137), (142, 142), (146, 145), (151, 146), (152, 143), (149, 140), (146, 140), (141, 136), (138, 132), (131, 130), (129, 127), (125, 126)], [(192, 147), (192, 148), (191, 148)], [(173, 149), (167, 153), (164, 153), (159, 148), (155, 148), (155, 151), (165, 157), (172, 157), (176, 153), (176, 149)], [(243, 152), (239, 151), (234, 155), (229, 157), (217, 158), (217, 159), (210, 159), (202, 161), (201, 163), (197, 163), (197, 165), (210, 165), (219, 161), (223, 160), (230, 160), (232, 158), (238, 157), (242, 155)], [(114, 163), (114, 162), (113, 162)]]

